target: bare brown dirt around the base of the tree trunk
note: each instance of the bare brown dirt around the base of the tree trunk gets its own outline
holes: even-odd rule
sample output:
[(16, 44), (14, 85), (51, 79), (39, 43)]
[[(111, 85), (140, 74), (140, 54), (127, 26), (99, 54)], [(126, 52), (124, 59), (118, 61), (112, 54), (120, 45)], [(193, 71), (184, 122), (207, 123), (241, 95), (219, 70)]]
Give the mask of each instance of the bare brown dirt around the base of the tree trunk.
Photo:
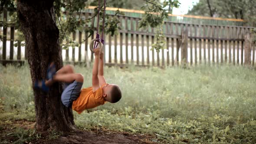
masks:
[[(34, 128), (34, 122), (31, 121), (13, 121), (12, 124), (0, 125), (0, 141), (13, 143), (16, 137), (8, 134), (15, 128), (24, 128), (26, 130)], [(128, 132), (115, 132), (102, 129), (92, 129), (91, 131), (75, 131), (53, 135), (45, 131), (38, 133), (40, 138), (24, 141), (24, 144), (156, 144), (152, 142), (155, 136), (146, 134), (130, 134)], [(1, 143), (1, 142), (0, 142)]]

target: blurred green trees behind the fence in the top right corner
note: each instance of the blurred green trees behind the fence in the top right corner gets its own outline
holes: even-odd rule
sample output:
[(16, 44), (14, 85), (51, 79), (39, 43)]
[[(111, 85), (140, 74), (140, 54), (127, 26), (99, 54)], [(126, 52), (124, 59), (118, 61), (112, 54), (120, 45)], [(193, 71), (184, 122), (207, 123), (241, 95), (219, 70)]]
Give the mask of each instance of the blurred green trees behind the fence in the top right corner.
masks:
[(253, 0), (199, 0), (187, 14), (243, 19), (256, 26), (255, 7)]

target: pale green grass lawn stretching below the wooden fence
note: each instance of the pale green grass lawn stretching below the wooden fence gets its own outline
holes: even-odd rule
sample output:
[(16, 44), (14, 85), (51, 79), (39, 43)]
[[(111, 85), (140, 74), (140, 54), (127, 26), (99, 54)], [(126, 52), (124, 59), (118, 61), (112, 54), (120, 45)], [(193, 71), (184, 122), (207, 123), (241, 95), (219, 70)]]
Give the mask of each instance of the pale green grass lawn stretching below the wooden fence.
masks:
[[(91, 85), (91, 69), (75, 67)], [(22, 76), (21, 76), (22, 75)], [(241, 66), (128, 69), (105, 68), (108, 83), (118, 84), (116, 104), (75, 111), (82, 129), (102, 128), (152, 134), (164, 143), (241, 144), (256, 142), (256, 72)], [(1, 121), (34, 120), (28, 66), (0, 67)]]

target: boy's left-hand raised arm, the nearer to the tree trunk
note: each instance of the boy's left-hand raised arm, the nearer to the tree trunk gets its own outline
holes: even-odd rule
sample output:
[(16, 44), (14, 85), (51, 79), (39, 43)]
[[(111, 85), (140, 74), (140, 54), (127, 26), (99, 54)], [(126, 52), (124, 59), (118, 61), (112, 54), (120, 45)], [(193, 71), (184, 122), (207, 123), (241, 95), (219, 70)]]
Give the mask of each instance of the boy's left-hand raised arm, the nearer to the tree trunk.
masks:
[(99, 59), (99, 49), (94, 49), (94, 63), (92, 68), (92, 91), (95, 92), (98, 88), (100, 88), (99, 85), (99, 79), (98, 79), (98, 59)]

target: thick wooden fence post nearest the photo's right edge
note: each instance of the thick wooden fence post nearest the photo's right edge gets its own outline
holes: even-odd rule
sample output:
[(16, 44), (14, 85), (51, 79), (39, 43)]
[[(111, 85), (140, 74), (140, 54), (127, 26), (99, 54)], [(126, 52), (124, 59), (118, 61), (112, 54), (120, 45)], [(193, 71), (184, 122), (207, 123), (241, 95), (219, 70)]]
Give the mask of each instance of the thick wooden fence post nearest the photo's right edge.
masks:
[(244, 36), (244, 65), (251, 65), (251, 52), (253, 48), (253, 33), (246, 33)]

